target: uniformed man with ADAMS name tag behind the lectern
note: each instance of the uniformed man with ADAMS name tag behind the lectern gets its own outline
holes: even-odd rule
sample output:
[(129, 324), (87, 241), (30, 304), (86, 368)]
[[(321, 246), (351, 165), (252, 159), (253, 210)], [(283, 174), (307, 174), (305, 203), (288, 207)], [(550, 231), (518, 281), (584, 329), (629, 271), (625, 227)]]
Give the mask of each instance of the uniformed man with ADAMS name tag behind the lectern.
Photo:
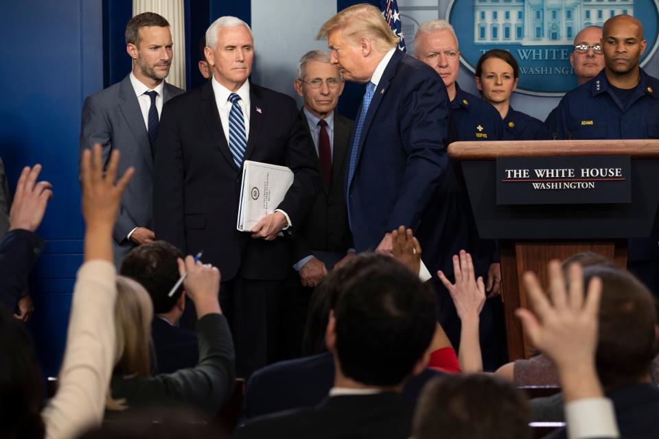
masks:
[[(561, 139), (659, 139), (659, 80), (639, 66), (647, 42), (628, 15), (604, 23), (604, 70), (567, 93), (557, 110)], [(629, 240), (628, 268), (659, 295), (659, 233)]]

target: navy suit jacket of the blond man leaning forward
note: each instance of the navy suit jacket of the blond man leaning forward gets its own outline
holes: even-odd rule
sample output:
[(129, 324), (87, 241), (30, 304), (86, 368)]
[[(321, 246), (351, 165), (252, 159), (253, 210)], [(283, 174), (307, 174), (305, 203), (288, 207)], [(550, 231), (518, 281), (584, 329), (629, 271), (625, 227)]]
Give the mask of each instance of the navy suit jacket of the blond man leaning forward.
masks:
[(431, 200), (448, 164), (449, 104), (436, 71), (394, 52), (375, 89), (357, 145), (354, 177), (347, 182), (358, 252), (374, 249), (386, 232), (405, 225), (416, 230), (431, 272), (436, 267), (426, 250), (439, 244), (441, 215), (446, 215)]

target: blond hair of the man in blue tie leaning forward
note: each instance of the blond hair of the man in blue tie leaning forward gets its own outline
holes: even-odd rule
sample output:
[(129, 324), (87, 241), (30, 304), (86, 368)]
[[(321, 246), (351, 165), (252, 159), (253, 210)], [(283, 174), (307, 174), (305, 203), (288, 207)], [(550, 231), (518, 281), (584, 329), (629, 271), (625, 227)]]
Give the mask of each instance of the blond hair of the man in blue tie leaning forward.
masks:
[(400, 42), (400, 36), (389, 28), (382, 12), (366, 3), (345, 8), (325, 21), (316, 35), (316, 40), (324, 40), (329, 32), (337, 27), (342, 28), (343, 35), (349, 36), (353, 41), (360, 38), (372, 39), (378, 51), (388, 51)]

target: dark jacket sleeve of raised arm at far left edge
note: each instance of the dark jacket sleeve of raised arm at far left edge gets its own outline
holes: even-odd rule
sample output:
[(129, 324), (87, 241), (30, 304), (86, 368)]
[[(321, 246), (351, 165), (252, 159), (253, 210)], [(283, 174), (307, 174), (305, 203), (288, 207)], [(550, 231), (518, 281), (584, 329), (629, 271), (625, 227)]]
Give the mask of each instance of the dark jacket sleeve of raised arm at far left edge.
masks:
[(30, 270), (46, 243), (30, 230), (12, 230), (0, 241), (0, 305), (14, 312)]

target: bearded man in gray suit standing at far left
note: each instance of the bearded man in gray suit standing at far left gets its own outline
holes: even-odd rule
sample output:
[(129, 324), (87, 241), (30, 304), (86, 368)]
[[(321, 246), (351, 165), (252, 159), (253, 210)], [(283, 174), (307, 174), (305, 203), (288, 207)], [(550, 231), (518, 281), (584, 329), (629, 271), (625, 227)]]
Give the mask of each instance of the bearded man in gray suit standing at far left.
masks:
[(126, 51), (132, 71), (122, 82), (87, 97), (80, 127), (81, 152), (98, 142), (107, 161), (117, 147), (122, 152), (119, 173), (135, 167), (113, 231), (117, 267), (132, 248), (154, 239), (152, 147), (163, 104), (183, 93), (164, 81), (172, 64), (172, 34), (162, 16), (144, 12), (132, 17), (126, 25)]

